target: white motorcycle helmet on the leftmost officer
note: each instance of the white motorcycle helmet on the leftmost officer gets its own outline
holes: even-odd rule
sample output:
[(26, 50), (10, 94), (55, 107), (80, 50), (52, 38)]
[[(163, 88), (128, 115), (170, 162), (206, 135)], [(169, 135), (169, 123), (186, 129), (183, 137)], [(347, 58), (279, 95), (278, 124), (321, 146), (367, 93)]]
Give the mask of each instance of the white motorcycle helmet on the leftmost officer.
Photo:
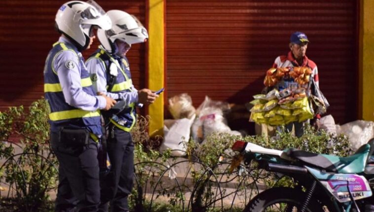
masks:
[(55, 21), (57, 30), (72, 39), (79, 50), (87, 48), (92, 27), (103, 30), (112, 27), (111, 19), (93, 0), (64, 3), (57, 11)]

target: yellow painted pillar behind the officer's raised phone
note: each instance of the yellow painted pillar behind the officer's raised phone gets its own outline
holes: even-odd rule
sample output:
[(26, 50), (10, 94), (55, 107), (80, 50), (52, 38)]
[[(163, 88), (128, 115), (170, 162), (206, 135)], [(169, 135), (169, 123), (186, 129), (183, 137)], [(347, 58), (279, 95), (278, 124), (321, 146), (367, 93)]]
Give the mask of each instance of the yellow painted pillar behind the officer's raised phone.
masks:
[[(164, 87), (164, 0), (149, 2), (149, 49), (148, 49), (148, 85), (156, 91)], [(164, 126), (164, 95), (150, 105), (150, 136), (162, 135)]]

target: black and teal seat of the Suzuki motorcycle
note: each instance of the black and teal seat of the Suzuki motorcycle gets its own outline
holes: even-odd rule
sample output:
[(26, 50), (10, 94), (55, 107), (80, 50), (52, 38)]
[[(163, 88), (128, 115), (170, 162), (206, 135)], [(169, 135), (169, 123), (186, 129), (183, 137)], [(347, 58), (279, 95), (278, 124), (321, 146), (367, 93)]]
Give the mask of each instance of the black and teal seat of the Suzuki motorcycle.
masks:
[(327, 172), (353, 174), (364, 172), (368, 156), (373, 150), (372, 146), (373, 142), (364, 144), (353, 155), (348, 157), (316, 154), (295, 148), (286, 150), (286, 153), (292, 158), (296, 158), (308, 165), (322, 168)]

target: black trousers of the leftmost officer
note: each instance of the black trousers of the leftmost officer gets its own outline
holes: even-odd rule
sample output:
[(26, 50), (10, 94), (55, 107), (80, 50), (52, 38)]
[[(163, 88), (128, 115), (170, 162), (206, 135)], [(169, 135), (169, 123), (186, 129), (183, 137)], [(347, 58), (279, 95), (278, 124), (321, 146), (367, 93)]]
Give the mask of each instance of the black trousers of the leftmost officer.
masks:
[(56, 212), (97, 212), (100, 204), (97, 144), (69, 146), (51, 132), (51, 147), (59, 165)]

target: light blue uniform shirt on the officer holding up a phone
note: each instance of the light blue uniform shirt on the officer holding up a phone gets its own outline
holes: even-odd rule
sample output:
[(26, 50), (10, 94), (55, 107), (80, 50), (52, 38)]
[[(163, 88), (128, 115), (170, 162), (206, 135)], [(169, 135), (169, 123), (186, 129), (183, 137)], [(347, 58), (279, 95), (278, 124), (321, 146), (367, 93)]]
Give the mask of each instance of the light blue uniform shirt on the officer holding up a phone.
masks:
[[(97, 76), (97, 80), (92, 82), (95, 92), (103, 92), (105, 95), (115, 100), (120, 99), (121, 101), (124, 101), (122, 104), (125, 107), (129, 106), (131, 103), (138, 102), (138, 90), (134, 88), (134, 85), (131, 87), (132, 92), (124, 91), (119, 93), (111, 93), (107, 91), (107, 70), (99, 58), (90, 58), (86, 61), (86, 66), (90, 76), (94, 74)], [(120, 73), (121, 71), (118, 71), (118, 74)]]

